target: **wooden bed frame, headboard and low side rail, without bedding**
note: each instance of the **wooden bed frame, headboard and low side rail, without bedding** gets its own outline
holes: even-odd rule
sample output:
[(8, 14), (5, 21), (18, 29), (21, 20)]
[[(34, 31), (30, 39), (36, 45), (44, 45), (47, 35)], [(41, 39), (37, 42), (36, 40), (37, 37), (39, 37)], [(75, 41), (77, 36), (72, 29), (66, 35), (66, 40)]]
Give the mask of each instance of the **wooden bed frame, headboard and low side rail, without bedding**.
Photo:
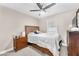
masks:
[[(25, 26), (25, 34), (26, 36), (30, 33), (30, 32), (34, 32), (36, 30), (40, 30), (38, 26)], [(27, 37), (28, 38), (28, 37)], [(30, 43), (28, 42), (28, 45), (40, 50), (42, 53), (46, 53), (49, 56), (53, 56), (53, 53), (50, 52), (50, 50), (48, 48), (45, 47), (40, 47), (39, 45), (35, 44), (35, 43)]]

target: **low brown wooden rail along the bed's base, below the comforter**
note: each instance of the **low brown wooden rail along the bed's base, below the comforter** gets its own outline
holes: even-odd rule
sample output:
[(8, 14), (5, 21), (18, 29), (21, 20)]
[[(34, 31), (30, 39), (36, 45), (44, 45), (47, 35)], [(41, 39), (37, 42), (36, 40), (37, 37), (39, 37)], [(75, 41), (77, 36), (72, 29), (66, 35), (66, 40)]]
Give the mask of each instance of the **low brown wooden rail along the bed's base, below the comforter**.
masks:
[(29, 45), (40, 50), (42, 53), (46, 53), (49, 56), (53, 56), (53, 54), (49, 51), (48, 48), (40, 47), (40, 46), (38, 46), (37, 44), (34, 44), (34, 43), (29, 43)]

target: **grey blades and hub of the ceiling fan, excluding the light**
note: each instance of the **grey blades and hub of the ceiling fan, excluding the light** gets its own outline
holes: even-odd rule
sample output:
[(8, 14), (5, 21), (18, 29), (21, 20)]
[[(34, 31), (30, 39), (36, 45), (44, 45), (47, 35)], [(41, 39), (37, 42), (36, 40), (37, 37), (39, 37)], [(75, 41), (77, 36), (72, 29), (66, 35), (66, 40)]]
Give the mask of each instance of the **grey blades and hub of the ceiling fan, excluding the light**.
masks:
[(36, 4), (39, 7), (39, 9), (38, 10), (30, 10), (30, 12), (38, 12), (38, 11), (46, 12), (46, 9), (54, 6), (56, 3), (51, 3), (51, 4), (49, 4), (49, 5), (45, 6), (45, 7), (43, 7), (44, 5), (42, 5), (41, 3), (36, 3)]

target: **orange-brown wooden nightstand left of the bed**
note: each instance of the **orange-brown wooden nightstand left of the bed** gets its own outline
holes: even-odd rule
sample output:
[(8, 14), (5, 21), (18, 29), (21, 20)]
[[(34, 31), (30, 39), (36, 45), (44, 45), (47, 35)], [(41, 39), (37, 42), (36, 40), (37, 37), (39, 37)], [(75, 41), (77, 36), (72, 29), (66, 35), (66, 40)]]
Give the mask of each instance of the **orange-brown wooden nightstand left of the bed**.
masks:
[(14, 38), (13, 46), (15, 51), (27, 47), (27, 38), (25, 37)]

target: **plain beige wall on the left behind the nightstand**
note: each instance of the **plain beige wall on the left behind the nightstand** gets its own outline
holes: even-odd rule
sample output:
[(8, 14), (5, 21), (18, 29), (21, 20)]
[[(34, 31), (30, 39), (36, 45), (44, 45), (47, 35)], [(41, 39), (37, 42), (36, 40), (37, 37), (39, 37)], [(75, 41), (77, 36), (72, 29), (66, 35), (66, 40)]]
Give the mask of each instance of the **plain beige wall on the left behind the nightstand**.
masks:
[(22, 32), (25, 25), (38, 25), (38, 20), (0, 6), (0, 52), (13, 47), (13, 36)]

